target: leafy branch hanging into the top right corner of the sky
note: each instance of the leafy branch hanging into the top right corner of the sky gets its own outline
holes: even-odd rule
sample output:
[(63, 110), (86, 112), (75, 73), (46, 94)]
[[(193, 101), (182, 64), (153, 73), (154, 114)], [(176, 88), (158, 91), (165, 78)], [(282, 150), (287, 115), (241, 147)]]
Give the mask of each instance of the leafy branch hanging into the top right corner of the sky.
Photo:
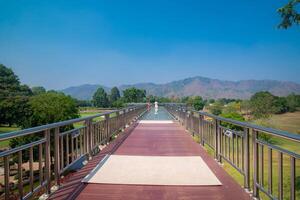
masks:
[(293, 24), (300, 24), (299, 6), (300, 0), (290, 0), (286, 5), (279, 8), (277, 12), (281, 15), (282, 21), (279, 28), (287, 29)]

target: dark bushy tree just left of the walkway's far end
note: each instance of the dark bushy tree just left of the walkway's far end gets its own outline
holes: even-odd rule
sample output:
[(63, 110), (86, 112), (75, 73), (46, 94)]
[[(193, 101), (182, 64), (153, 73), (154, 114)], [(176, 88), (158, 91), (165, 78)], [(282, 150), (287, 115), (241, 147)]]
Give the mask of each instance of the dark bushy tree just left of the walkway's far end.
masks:
[(123, 95), (126, 103), (140, 103), (146, 100), (146, 90), (140, 90), (134, 87), (124, 90)]

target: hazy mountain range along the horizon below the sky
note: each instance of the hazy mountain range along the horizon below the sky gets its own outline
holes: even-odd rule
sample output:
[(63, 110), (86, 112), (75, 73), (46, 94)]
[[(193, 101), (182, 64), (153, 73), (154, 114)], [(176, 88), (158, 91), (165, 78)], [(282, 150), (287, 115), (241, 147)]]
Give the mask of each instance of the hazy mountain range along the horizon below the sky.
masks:
[[(98, 87), (103, 87), (107, 92), (109, 87), (101, 85), (80, 85), (63, 89), (62, 92), (77, 99), (89, 100)], [(300, 84), (287, 81), (275, 80), (242, 80), (242, 81), (223, 81), (205, 77), (192, 77), (183, 80), (172, 81), (164, 84), (137, 83), (132, 85), (121, 85), (122, 91), (126, 88), (136, 87), (145, 89), (147, 95), (155, 96), (195, 96), (200, 95), (204, 98), (235, 98), (247, 99), (255, 92), (269, 91), (277, 96), (286, 96), (290, 93), (300, 94)]]

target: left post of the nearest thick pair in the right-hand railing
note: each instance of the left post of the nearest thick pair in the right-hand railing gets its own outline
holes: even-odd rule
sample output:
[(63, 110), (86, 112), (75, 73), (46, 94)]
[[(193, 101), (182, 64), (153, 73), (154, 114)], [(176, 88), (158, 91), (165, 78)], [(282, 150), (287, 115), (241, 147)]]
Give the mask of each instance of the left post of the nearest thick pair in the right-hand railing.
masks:
[(244, 188), (250, 189), (250, 145), (249, 128), (244, 127)]

